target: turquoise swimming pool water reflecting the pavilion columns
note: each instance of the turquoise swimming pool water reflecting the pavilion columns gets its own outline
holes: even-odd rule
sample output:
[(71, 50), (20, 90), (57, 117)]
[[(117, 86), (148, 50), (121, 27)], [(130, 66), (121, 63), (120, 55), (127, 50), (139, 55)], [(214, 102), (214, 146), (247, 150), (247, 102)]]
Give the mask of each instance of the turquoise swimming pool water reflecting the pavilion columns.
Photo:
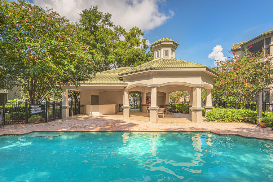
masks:
[(272, 168), (273, 141), (212, 133), (0, 137), (1, 181), (271, 181)]

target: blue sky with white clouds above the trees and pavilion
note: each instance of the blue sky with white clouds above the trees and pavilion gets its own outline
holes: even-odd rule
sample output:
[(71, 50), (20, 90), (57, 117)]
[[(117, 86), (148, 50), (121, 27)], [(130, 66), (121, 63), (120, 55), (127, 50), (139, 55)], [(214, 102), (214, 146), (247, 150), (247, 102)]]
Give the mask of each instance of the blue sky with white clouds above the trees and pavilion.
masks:
[(179, 43), (175, 58), (214, 65), (208, 55), (220, 45), (228, 56), (232, 44), (247, 41), (273, 29), (272, 0), (174, 1), (174, 0), (33, 0), (50, 7), (72, 22), (90, 6), (112, 14), (112, 20), (127, 30), (137, 26), (152, 43), (167, 37)]

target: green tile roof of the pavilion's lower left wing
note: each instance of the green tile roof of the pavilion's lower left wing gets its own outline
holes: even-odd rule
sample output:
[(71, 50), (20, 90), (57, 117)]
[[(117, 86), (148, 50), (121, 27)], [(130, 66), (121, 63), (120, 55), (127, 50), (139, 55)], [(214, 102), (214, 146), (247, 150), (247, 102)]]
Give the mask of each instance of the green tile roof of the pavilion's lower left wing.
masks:
[(91, 81), (79, 81), (80, 84), (127, 84), (124, 81), (119, 79), (118, 74), (120, 72), (124, 72), (128, 69), (132, 69), (131, 67), (120, 67), (112, 70), (107, 70), (103, 72), (97, 72), (94, 75), (91, 75)]

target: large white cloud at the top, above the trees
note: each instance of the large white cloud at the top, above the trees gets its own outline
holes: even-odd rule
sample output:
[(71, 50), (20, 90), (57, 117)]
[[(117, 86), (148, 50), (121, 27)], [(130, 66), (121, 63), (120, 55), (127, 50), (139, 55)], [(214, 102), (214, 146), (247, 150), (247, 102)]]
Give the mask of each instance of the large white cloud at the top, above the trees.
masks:
[(99, 11), (112, 14), (115, 25), (121, 25), (127, 31), (136, 26), (142, 31), (152, 30), (164, 24), (173, 15), (159, 10), (160, 0), (33, 0), (34, 4), (42, 8), (53, 8), (61, 16), (76, 22), (80, 18), (82, 9), (98, 6)]

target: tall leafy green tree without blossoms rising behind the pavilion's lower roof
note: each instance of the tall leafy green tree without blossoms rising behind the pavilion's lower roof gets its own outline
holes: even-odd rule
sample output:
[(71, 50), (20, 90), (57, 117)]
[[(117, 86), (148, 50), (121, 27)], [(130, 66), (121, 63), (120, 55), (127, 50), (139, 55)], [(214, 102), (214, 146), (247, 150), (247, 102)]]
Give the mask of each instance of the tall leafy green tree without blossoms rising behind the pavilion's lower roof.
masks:
[(133, 27), (126, 32), (122, 26), (115, 26), (112, 15), (103, 14), (98, 6), (84, 9), (80, 15), (75, 26), (81, 41), (91, 47), (89, 54), (95, 71), (134, 67), (152, 60), (152, 53), (145, 53), (147, 39), (142, 38), (144, 33), (139, 28)]

